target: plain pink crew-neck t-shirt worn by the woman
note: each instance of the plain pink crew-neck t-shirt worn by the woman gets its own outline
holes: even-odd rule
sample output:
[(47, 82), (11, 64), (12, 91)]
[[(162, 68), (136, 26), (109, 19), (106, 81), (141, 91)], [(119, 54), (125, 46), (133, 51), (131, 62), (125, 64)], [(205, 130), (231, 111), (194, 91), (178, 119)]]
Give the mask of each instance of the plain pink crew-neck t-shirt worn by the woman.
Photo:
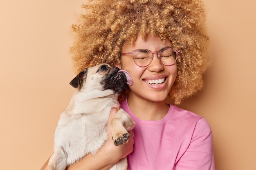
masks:
[(127, 100), (121, 108), (136, 123), (129, 170), (215, 170), (211, 128), (201, 116), (170, 105), (162, 120), (146, 121), (130, 111)]

